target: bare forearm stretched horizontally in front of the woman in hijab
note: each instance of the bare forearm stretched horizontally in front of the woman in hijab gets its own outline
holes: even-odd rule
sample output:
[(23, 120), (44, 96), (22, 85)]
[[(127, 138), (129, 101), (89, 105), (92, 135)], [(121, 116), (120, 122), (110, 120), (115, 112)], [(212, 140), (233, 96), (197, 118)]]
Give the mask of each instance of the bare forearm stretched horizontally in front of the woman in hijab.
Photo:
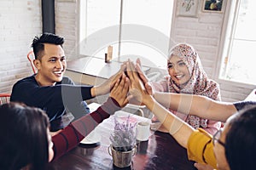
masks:
[(172, 110), (215, 121), (225, 122), (236, 113), (236, 107), (232, 103), (215, 101), (200, 95), (155, 93), (154, 98)]

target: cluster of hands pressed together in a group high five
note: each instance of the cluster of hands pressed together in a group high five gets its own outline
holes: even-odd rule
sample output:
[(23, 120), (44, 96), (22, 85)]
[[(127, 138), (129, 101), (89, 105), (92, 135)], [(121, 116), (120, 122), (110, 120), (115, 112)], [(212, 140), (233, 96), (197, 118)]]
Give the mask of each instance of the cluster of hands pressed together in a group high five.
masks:
[[(130, 59), (122, 65), (123, 73), (118, 73), (115, 80), (111, 81), (113, 89), (111, 90), (110, 96), (122, 100), (119, 101), (119, 105), (125, 106), (126, 103), (133, 105), (150, 105), (153, 99), (153, 90), (148, 83), (147, 77), (144, 75), (140, 61), (137, 59), (137, 64), (135, 65)], [(128, 80), (129, 79), (129, 80)], [(146, 87), (146, 88), (145, 88)], [(119, 95), (117, 95), (119, 94)], [(126, 99), (124, 99), (126, 95)]]

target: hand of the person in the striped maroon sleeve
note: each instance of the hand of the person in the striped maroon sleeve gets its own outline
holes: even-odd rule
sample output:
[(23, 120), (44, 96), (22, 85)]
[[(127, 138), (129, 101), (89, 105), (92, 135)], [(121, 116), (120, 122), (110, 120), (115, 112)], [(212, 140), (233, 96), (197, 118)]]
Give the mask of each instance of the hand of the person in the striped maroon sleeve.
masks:
[(115, 99), (120, 107), (124, 107), (128, 103), (127, 93), (129, 91), (129, 86), (130, 80), (125, 76), (125, 73), (123, 73), (122, 76), (116, 80), (113, 89), (109, 94), (109, 97)]

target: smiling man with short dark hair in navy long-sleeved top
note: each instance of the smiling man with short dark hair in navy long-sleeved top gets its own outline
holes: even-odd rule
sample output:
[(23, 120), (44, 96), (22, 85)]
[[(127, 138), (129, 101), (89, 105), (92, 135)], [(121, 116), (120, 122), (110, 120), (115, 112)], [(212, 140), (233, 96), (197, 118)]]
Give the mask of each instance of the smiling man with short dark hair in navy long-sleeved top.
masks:
[[(70, 111), (75, 119), (90, 112), (86, 99), (108, 94), (112, 82), (120, 71), (100, 86), (76, 86), (69, 77), (64, 77), (67, 62), (63, 50), (64, 38), (51, 33), (34, 37), (32, 48), (35, 55), (33, 64), (38, 73), (16, 82), (10, 101), (22, 102), (44, 110), (49, 116), (50, 131), (66, 127), (62, 117)], [(71, 122), (71, 120), (69, 121)]]

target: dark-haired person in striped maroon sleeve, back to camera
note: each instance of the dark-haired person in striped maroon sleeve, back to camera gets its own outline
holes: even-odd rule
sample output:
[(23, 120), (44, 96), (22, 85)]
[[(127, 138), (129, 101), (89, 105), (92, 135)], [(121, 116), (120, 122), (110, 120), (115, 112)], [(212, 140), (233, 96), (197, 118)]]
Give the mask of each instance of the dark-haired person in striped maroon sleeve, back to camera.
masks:
[(99, 123), (128, 103), (130, 80), (123, 73), (108, 100), (96, 111), (82, 116), (52, 139), (45, 111), (21, 103), (0, 106), (0, 169), (41, 170), (73, 149)]

